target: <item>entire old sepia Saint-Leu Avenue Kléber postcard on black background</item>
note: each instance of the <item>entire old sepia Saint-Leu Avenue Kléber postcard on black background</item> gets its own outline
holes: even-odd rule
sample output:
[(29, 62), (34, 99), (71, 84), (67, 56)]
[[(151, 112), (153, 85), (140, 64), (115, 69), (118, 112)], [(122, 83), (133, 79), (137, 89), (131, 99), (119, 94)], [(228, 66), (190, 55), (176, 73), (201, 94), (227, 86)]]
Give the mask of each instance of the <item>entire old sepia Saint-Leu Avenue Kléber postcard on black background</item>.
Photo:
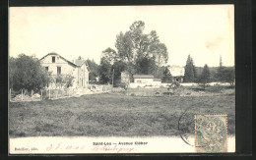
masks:
[(233, 5), (9, 8), (9, 153), (235, 152)]

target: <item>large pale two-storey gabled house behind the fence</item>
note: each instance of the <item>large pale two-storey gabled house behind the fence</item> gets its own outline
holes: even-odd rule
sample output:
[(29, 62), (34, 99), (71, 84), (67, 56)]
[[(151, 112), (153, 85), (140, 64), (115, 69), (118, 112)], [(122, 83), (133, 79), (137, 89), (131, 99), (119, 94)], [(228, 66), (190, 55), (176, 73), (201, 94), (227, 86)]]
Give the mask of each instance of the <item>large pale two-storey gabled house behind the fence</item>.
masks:
[[(49, 53), (39, 60), (41, 66), (51, 73), (52, 78), (71, 76), (74, 78), (72, 87), (87, 87), (89, 84), (89, 66), (84, 60), (69, 61), (57, 53)], [(54, 87), (54, 81), (49, 84)]]

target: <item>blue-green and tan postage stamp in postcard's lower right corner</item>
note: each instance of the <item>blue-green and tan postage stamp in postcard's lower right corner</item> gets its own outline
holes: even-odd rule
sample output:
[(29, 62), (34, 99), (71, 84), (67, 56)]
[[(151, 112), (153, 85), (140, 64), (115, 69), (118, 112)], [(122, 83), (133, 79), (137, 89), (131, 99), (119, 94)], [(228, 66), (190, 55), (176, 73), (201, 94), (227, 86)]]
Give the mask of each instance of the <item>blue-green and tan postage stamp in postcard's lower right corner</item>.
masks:
[(227, 151), (227, 115), (195, 115), (196, 152)]

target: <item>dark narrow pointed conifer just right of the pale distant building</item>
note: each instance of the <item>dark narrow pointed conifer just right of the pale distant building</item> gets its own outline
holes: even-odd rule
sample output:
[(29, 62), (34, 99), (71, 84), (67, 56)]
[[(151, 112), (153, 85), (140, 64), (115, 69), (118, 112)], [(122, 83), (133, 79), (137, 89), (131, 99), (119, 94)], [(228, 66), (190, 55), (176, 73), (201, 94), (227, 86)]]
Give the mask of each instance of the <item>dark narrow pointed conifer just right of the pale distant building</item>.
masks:
[(185, 82), (193, 82), (195, 80), (195, 66), (193, 64), (193, 59), (188, 55), (186, 66), (185, 66), (185, 75), (184, 81)]

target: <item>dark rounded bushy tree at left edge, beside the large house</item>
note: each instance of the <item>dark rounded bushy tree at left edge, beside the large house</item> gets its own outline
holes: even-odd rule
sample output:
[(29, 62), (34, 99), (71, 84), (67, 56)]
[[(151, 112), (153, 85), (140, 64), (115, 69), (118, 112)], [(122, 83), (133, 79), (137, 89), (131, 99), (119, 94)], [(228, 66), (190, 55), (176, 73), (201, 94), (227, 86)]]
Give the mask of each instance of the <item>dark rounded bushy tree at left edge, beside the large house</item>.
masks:
[(50, 81), (49, 74), (32, 56), (20, 54), (18, 58), (10, 58), (9, 69), (10, 86), (15, 90), (38, 91)]

